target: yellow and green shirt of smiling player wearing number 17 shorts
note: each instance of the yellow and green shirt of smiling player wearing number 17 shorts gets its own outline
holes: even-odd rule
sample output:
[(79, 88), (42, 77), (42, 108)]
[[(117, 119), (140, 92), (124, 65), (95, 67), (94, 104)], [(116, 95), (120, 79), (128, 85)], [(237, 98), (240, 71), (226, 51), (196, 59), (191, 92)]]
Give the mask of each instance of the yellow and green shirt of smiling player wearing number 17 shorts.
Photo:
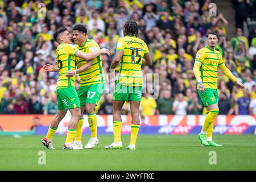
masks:
[[(100, 46), (98, 46), (98, 44), (91, 39), (86, 39), (84, 45), (81, 47), (79, 46), (79, 44), (76, 44), (76, 47), (84, 53), (90, 53), (100, 50)], [(84, 59), (81, 59), (80, 57), (76, 57), (76, 63), (77, 68), (80, 68), (86, 63), (86, 61)], [(101, 55), (93, 59), (92, 67), (84, 72), (79, 73), (79, 76), (80, 86), (100, 83), (105, 84), (106, 78), (102, 68)]]

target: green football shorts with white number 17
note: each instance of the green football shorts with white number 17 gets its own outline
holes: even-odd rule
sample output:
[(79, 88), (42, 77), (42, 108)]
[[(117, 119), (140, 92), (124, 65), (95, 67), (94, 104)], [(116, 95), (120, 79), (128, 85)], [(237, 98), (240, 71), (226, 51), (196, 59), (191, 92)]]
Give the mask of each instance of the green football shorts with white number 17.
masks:
[(84, 106), (86, 103), (95, 104), (97, 106), (104, 88), (105, 84), (79, 86), (77, 94), (79, 96), (81, 106)]

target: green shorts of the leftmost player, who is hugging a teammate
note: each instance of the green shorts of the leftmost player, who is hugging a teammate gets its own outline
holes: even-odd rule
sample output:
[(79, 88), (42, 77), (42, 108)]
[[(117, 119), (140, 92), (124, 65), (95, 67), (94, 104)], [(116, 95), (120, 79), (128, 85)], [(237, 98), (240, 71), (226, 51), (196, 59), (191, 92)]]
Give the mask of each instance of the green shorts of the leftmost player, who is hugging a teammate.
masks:
[(57, 109), (67, 110), (80, 107), (75, 87), (57, 89)]

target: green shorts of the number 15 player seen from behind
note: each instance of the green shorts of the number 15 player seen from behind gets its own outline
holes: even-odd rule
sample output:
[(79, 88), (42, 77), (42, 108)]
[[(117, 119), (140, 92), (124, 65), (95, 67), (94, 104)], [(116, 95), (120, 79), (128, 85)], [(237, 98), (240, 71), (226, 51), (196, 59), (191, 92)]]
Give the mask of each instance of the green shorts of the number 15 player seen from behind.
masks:
[(115, 101), (141, 101), (142, 86), (127, 86), (117, 84), (113, 94)]

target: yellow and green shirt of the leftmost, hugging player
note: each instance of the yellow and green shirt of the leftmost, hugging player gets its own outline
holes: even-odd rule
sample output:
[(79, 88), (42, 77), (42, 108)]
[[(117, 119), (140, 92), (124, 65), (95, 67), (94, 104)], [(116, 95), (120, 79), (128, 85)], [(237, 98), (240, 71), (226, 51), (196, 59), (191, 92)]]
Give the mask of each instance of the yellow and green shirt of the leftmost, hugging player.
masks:
[(76, 69), (75, 56), (79, 49), (72, 44), (60, 44), (56, 49), (56, 60), (59, 68), (57, 89), (75, 87), (75, 76), (66, 77), (65, 73)]

